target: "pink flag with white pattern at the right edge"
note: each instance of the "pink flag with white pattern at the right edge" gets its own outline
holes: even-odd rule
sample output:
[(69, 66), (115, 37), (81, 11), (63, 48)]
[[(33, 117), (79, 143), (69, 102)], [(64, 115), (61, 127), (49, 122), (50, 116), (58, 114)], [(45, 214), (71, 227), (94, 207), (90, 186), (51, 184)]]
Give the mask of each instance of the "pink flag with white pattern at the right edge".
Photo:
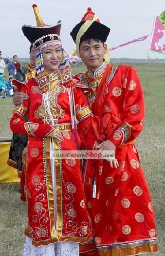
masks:
[(165, 25), (161, 22), (160, 16), (155, 19), (150, 50), (165, 54)]

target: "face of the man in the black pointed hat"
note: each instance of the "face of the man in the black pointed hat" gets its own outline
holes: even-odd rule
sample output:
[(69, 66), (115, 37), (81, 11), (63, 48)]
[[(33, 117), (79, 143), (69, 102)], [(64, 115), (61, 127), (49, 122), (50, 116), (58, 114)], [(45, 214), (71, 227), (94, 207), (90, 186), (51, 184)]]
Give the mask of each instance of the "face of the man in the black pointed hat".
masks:
[(93, 39), (91, 43), (83, 41), (79, 48), (80, 57), (86, 64), (87, 68), (94, 72), (100, 65), (103, 64), (104, 54), (107, 52), (106, 45), (103, 46), (101, 41), (96, 42)]

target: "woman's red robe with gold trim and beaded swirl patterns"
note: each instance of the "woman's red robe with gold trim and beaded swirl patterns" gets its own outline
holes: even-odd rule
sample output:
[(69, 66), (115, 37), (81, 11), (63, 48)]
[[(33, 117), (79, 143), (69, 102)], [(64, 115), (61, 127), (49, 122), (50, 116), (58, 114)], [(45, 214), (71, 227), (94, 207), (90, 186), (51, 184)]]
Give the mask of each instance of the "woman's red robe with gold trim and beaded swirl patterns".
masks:
[[(13, 80), (13, 85), (26, 92), (28, 100), (16, 107), (10, 121), (15, 133), (28, 135), (28, 145), (24, 150), (21, 174), (22, 200), (28, 206), (28, 224), (25, 235), (32, 238), (35, 246), (57, 241), (87, 242), (93, 235), (91, 219), (87, 213), (84, 188), (81, 178), (81, 160), (67, 156), (55, 157), (56, 207), (52, 185), (51, 142), (54, 150), (76, 150), (76, 131), (72, 130), (71, 99), (65, 84), (61, 84), (59, 71), (50, 76), (45, 73), (49, 88), (48, 104), (53, 122), (39, 92), (37, 78), (24, 83)], [(92, 112), (80, 88), (73, 87), (76, 118), (79, 128), (84, 129), (91, 122)], [(28, 114), (28, 122), (24, 117)], [(58, 128), (64, 141), (54, 138)], [(83, 131), (82, 131), (83, 133)], [(87, 132), (87, 146), (94, 147), (94, 132)], [(55, 213), (57, 220), (55, 221)]]

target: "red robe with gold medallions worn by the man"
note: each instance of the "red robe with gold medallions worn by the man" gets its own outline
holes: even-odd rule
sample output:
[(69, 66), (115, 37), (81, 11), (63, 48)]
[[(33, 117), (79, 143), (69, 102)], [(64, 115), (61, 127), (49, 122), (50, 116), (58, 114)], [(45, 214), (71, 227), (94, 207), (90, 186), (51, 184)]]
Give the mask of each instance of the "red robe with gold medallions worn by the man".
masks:
[[(106, 85), (102, 85), (103, 94), (99, 85), (106, 68), (107, 64), (103, 63), (94, 76), (90, 71), (75, 76), (88, 85), (84, 91), (94, 114), (92, 125), (97, 139), (113, 142), (119, 163), (115, 169), (102, 160), (86, 162), (84, 186), (95, 245), (91, 240), (81, 251), (90, 251), (96, 246), (100, 256), (156, 252), (154, 211), (134, 144), (144, 126), (143, 89), (135, 69), (123, 65), (113, 67)], [(102, 107), (101, 113), (96, 102)], [(96, 198), (91, 196), (94, 179)]]

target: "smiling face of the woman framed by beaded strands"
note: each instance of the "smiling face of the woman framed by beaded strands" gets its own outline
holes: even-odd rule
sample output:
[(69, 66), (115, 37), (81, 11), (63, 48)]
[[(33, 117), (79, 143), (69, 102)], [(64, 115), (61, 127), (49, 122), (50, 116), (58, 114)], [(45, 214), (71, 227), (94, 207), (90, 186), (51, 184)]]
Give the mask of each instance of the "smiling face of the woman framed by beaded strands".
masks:
[(61, 46), (47, 47), (42, 50), (44, 71), (47, 74), (51, 74), (58, 68), (62, 62), (62, 50)]

